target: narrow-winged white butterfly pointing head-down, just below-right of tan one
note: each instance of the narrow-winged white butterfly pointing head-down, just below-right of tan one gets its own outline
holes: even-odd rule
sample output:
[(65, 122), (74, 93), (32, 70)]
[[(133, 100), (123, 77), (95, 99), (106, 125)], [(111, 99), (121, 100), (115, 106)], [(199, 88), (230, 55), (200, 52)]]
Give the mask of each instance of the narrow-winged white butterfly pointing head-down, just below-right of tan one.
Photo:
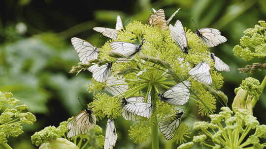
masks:
[(170, 35), (175, 43), (181, 48), (185, 53), (188, 53), (188, 40), (186, 32), (183, 28), (183, 25), (179, 20), (177, 20), (173, 25), (169, 25)]

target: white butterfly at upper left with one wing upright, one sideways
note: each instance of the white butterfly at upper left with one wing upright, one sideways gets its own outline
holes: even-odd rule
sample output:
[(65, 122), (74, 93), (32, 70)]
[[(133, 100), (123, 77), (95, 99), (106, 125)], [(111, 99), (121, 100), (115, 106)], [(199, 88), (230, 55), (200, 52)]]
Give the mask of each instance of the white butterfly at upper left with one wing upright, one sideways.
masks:
[(111, 28), (105, 28), (105, 27), (94, 27), (93, 29), (95, 31), (98, 31), (102, 33), (102, 35), (109, 37), (111, 39), (116, 39), (117, 38), (117, 32), (123, 28), (122, 20), (120, 16), (116, 17), (116, 25), (115, 29)]

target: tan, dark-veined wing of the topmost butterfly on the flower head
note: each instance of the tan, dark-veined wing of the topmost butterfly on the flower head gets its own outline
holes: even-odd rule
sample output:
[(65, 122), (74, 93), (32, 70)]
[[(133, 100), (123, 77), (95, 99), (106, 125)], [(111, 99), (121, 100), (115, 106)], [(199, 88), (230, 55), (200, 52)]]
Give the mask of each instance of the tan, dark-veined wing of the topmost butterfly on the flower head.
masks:
[(166, 30), (166, 16), (164, 9), (157, 10), (154, 14), (148, 19), (150, 25), (157, 25), (163, 30)]

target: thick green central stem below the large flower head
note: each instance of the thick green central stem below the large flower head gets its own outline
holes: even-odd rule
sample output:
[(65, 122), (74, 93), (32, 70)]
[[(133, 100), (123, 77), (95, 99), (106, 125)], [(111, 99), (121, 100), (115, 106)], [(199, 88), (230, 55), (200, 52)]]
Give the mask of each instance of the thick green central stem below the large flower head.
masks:
[(159, 140), (158, 140), (158, 122), (157, 122), (157, 108), (156, 108), (156, 92), (155, 89), (151, 91), (152, 104), (153, 104), (153, 115), (154, 115), (154, 125), (151, 128), (152, 133), (152, 149), (159, 149)]

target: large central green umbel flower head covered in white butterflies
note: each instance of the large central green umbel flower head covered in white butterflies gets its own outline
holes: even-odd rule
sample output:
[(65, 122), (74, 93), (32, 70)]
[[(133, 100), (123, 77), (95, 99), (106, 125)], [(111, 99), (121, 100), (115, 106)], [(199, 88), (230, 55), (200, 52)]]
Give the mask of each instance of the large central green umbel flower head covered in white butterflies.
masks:
[[(202, 116), (213, 114), (216, 98), (222, 95), (216, 90), (223, 86), (223, 76), (216, 70), (229, 71), (208, 48), (227, 40), (219, 30), (209, 28), (205, 32), (213, 32), (216, 36), (212, 37), (221, 40), (203, 40), (207, 36), (204, 29), (195, 34), (183, 29), (179, 20), (168, 28), (164, 17), (164, 10), (159, 9), (149, 18), (149, 25), (133, 21), (123, 28), (118, 16), (116, 29), (95, 27), (112, 39), (100, 48), (76, 37), (71, 39), (84, 63), (74, 66), (71, 72), (88, 70), (93, 74), (88, 90), (94, 94), (94, 100), (88, 108), (98, 120), (123, 116), (136, 121), (129, 135), (138, 143), (150, 136), (149, 128), (173, 115), (176, 106), (189, 100), (196, 102)], [(188, 126), (180, 123), (180, 115), (171, 121), (178, 122), (176, 129), (180, 131), (169, 138), (184, 142)]]

